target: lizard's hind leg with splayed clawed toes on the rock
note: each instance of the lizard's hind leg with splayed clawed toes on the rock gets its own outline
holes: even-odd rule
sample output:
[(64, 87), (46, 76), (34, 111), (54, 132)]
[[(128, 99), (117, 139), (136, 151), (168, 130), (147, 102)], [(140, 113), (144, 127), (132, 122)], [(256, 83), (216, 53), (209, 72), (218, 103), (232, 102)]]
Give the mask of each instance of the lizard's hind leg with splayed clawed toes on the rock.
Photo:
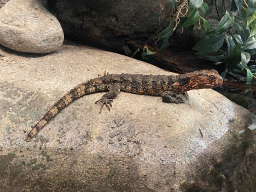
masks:
[(102, 111), (104, 105), (106, 105), (107, 109), (110, 111), (110, 107), (112, 107), (113, 99), (117, 97), (117, 95), (120, 93), (120, 83), (114, 83), (110, 84), (108, 87), (109, 92), (105, 93), (101, 99), (95, 102), (95, 104), (100, 103), (100, 112)]

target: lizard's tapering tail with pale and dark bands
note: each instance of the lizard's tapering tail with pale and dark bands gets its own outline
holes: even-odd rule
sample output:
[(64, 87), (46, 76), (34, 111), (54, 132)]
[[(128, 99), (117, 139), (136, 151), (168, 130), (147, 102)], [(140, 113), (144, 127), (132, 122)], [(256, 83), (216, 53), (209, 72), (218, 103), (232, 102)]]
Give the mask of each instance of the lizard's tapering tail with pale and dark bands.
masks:
[(92, 79), (71, 89), (57, 101), (34, 126), (32, 126), (32, 130), (29, 132), (26, 141), (30, 141), (53, 117), (74, 100), (90, 93), (106, 90), (107, 87), (102, 83), (100, 78)]

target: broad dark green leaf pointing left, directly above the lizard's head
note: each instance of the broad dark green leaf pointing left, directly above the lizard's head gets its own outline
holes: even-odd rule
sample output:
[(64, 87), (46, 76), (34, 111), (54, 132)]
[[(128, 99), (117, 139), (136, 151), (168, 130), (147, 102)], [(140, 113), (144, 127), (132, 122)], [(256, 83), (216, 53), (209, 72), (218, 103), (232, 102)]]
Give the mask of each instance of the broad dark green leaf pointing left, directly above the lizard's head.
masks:
[(217, 52), (224, 42), (224, 35), (210, 37), (195, 44), (193, 50), (201, 52)]

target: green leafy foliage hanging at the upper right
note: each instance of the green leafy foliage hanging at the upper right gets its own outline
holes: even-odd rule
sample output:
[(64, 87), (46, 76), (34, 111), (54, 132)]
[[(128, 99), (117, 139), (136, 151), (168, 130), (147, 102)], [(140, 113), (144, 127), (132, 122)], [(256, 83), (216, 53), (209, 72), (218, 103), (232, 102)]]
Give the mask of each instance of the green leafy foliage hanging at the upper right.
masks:
[[(256, 54), (256, 0), (216, 0), (216, 10), (219, 21), (217, 27), (212, 29), (207, 16), (209, 6), (203, 0), (183, 0), (178, 6), (176, 0), (170, 0), (173, 15), (166, 29), (156, 35), (154, 39), (163, 39), (160, 52), (169, 45), (169, 37), (177, 25), (190, 30), (198, 23), (203, 26), (206, 39), (196, 43), (193, 50), (200, 57), (206, 58), (216, 64), (224, 64), (225, 71), (243, 73), (250, 83), (256, 78), (256, 65), (248, 66), (251, 55)], [(231, 8), (227, 10), (225, 3), (230, 2)], [(143, 56), (152, 56), (153, 52), (144, 48)]]

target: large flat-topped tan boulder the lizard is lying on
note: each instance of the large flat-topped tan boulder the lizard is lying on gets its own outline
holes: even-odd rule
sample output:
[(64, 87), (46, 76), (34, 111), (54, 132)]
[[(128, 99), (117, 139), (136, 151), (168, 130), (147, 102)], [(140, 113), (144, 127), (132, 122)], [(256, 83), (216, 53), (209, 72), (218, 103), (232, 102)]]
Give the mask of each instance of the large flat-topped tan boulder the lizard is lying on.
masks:
[(184, 104), (120, 93), (111, 111), (87, 95), (31, 142), (30, 126), (64, 93), (104, 71), (170, 74), (147, 63), (67, 43), (41, 57), (0, 47), (2, 191), (253, 191), (255, 117), (213, 90)]

